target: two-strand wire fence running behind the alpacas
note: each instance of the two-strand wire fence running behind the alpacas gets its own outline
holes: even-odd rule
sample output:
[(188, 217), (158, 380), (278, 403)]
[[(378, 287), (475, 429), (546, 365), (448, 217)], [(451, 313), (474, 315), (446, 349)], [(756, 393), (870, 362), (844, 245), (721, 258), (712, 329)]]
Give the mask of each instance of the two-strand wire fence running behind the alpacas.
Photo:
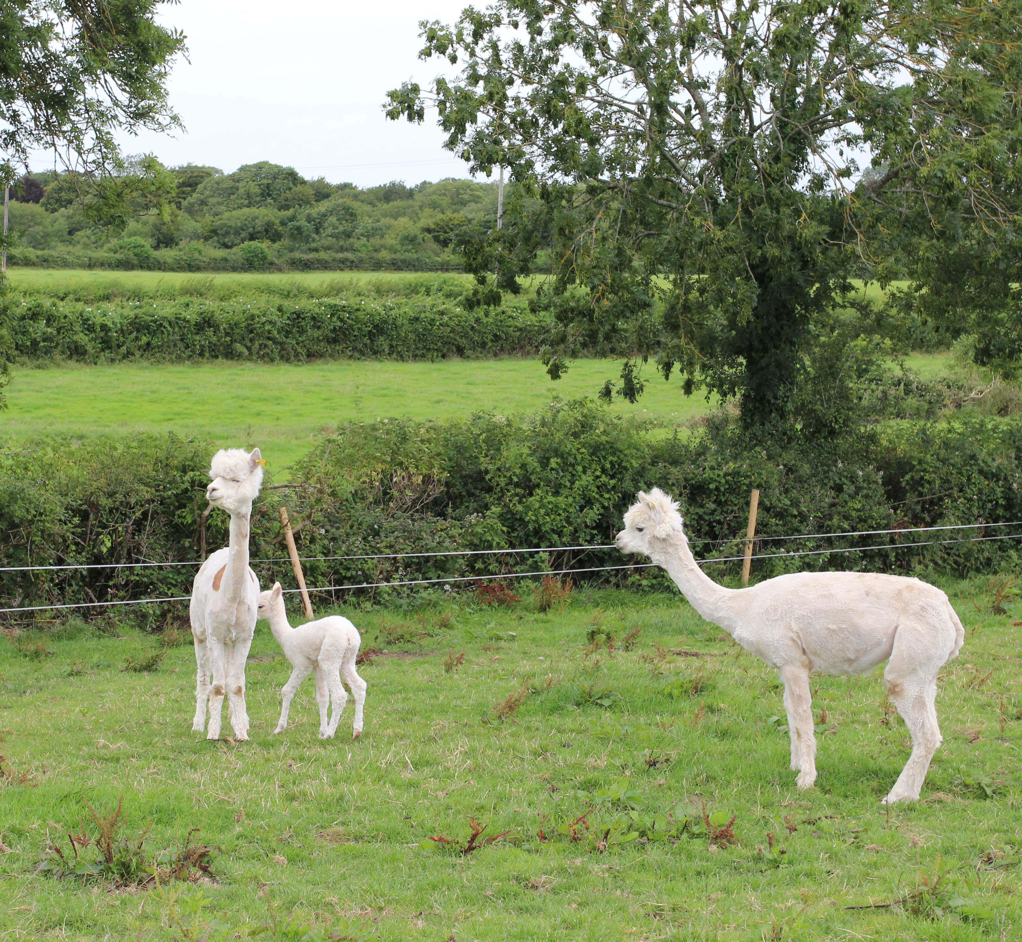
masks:
[[(1022, 527), (1022, 522), (1015, 523), (1005, 523), (1005, 524), (957, 524), (941, 527), (909, 527), (903, 529), (895, 530), (862, 530), (862, 531), (849, 531), (847, 533), (836, 533), (836, 534), (798, 534), (795, 536), (786, 537), (754, 537), (752, 539), (753, 543), (766, 542), (770, 540), (810, 540), (810, 539), (824, 539), (828, 537), (857, 537), (857, 536), (880, 536), (884, 534), (892, 533), (925, 533), (925, 532), (939, 532), (939, 531), (953, 531), (953, 530), (985, 530), (994, 527)], [(915, 543), (886, 543), (882, 545), (873, 546), (849, 546), (849, 547), (831, 547), (828, 549), (810, 549), (810, 550), (783, 550), (776, 553), (753, 553), (750, 555), (750, 559), (778, 559), (778, 558), (795, 558), (799, 556), (819, 556), (829, 553), (855, 553), (855, 552), (869, 552), (873, 550), (883, 550), (883, 549), (914, 549), (924, 546), (947, 546), (951, 544), (962, 544), (962, 543), (983, 543), (991, 542), (997, 540), (1018, 540), (1022, 539), (1022, 533), (1015, 534), (1004, 534), (997, 536), (983, 536), (983, 537), (962, 537), (959, 539), (950, 540), (924, 540)], [(749, 540), (746, 537), (739, 537), (727, 540), (695, 540), (691, 541), (694, 543), (748, 543)], [(541, 553), (541, 552), (562, 552), (562, 551), (572, 551), (572, 550), (601, 550), (601, 549), (614, 549), (615, 544), (594, 544), (592, 546), (547, 546), (547, 547), (532, 547), (532, 548), (522, 548), (522, 549), (491, 549), (491, 550), (449, 550), (443, 552), (429, 552), (429, 553), (376, 553), (369, 555), (354, 555), (354, 556), (307, 556), (300, 557), (303, 562), (314, 562), (314, 561), (325, 561), (325, 560), (359, 560), (359, 559), (401, 559), (405, 557), (416, 557), (416, 556), (468, 556), (468, 555), (480, 555), (480, 554), (501, 554), (501, 553)], [(704, 559), (696, 560), (700, 565), (709, 565), (712, 563), (719, 562), (734, 562), (742, 560), (745, 555), (738, 556), (714, 556), (707, 557)], [(290, 562), (289, 557), (273, 558), (273, 559), (252, 559), (252, 563), (268, 563), (268, 562)], [(35, 569), (65, 569), (65, 568), (123, 568), (123, 567), (141, 567), (141, 566), (167, 566), (167, 565), (199, 565), (200, 560), (193, 560), (190, 562), (134, 562), (134, 563), (101, 563), (101, 564), (83, 564), (83, 565), (53, 565), (53, 566), (5, 566), (0, 567), (0, 572), (31, 572)], [(439, 579), (406, 579), (391, 582), (374, 582), (374, 583), (354, 583), (351, 585), (342, 586), (317, 586), (315, 588), (308, 589), (309, 592), (320, 592), (320, 593), (335, 593), (341, 591), (354, 591), (358, 589), (382, 589), (382, 588), (400, 588), (407, 586), (424, 586), (424, 585), (453, 585), (456, 583), (464, 582), (484, 582), (487, 580), (509, 580), (509, 579), (526, 579), (536, 577), (549, 577), (549, 576), (571, 576), (571, 575), (582, 575), (586, 573), (606, 573), (606, 572), (620, 572), (624, 569), (647, 569), (656, 567), (656, 563), (645, 562), (645, 563), (628, 563), (623, 565), (600, 565), (600, 566), (586, 566), (577, 568), (561, 568), (561, 569), (542, 569), (538, 572), (530, 573), (495, 573), (491, 575), (478, 575), (478, 576), (449, 576)], [(300, 589), (285, 589), (285, 593), (300, 592)], [(158, 603), (169, 603), (169, 602), (186, 602), (191, 599), (189, 595), (179, 595), (170, 596), (166, 598), (146, 598), (146, 599), (123, 599), (115, 601), (106, 602), (74, 602), (68, 604), (54, 604), (54, 605), (26, 605), (20, 607), (11, 608), (0, 608), (0, 614), (7, 612), (27, 612), (27, 611), (51, 611), (59, 609), (73, 609), (73, 608), (104, 608), (117, 605), (146, 605), (146, 604), (158, 604)]]

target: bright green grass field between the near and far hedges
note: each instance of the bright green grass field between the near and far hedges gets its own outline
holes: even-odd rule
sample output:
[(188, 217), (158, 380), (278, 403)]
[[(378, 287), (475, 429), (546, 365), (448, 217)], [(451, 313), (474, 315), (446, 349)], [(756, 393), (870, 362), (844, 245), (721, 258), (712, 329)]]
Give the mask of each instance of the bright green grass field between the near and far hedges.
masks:
[[(595, 395), (618, 370), (612, 361), (579, 360), (555, 384), (532, 359), (18, 368), (0, 430), (3, 443), (50, 435), (201, 435), (222, 447), (258, 445), (271, 470), (280, 473), (325, 430), (345, 422), (530, 410), (553, 397)], [(610, 408), (669, 426), (708, 409), (703, 396), (686, 397), (677, 378), (665, 383), (652, 366), (648, 373), (647, 392), (638, 403), (616, 397)]]

